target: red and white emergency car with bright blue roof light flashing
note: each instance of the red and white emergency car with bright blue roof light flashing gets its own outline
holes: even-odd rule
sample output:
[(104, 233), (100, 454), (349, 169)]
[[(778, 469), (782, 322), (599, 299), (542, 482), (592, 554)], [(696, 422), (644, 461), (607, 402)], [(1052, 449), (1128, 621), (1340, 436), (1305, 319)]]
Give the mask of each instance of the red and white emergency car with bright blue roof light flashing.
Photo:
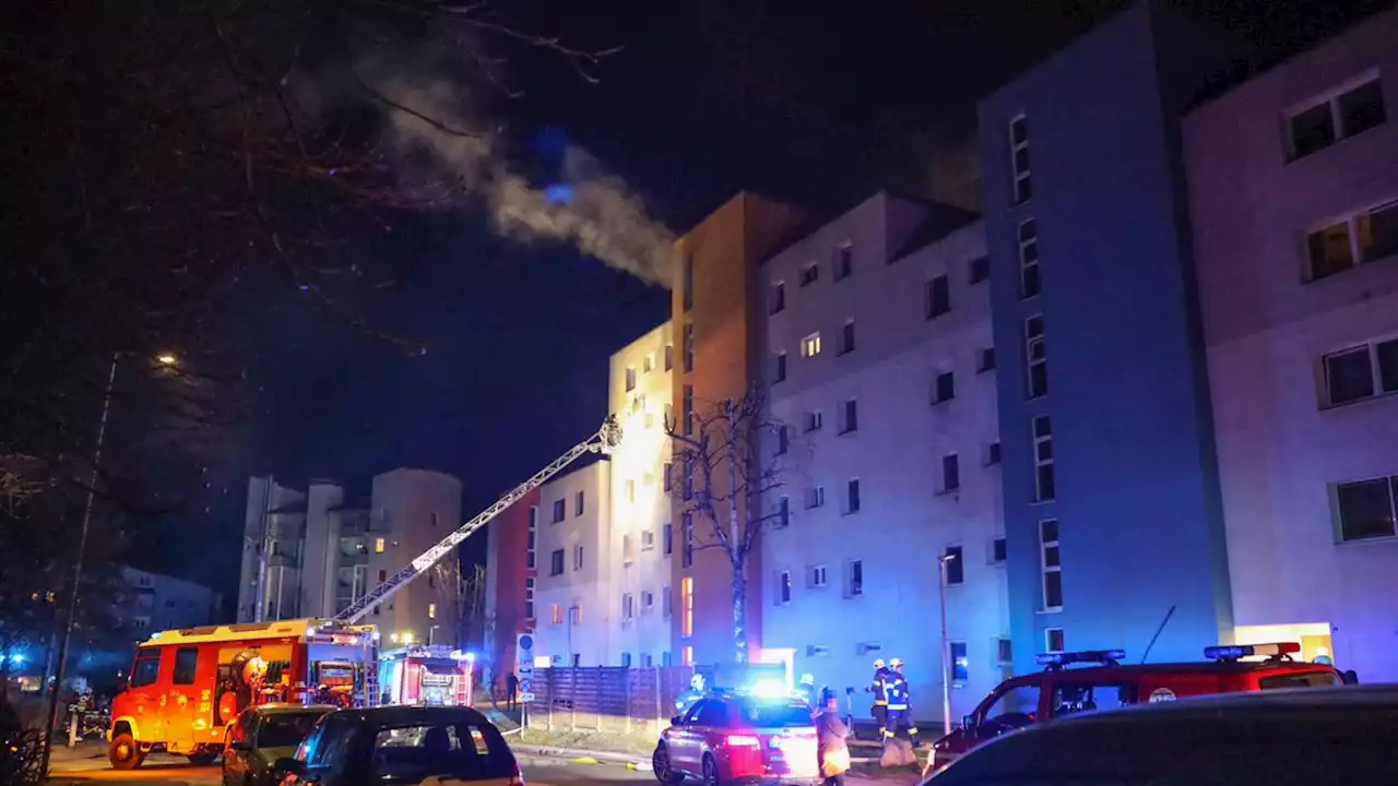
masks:
[(670, 720), (651, 766), (667, 785), (685, 778), (706, 786), (812, 783), (821, 779), (815, 754), (815, 722), (805, 702), (717, 694)]

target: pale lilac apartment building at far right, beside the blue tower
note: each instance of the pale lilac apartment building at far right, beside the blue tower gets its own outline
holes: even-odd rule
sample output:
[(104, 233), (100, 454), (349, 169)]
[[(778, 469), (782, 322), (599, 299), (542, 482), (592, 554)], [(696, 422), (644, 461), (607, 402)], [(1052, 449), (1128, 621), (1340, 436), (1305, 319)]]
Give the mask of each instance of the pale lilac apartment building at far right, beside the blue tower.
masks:
[(1394, 42), (1388, 11), (1183, 123), (1234, 635), (1366, 681), (1398, 680)]

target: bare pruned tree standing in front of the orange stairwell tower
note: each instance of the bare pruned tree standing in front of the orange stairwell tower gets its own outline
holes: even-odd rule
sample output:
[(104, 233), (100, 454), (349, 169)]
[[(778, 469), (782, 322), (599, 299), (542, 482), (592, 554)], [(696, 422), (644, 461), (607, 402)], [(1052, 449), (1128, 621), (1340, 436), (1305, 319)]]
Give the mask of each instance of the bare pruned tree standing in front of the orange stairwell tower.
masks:
[(681, 413), (665, 424), (679, 467), (671, 495), (682, 515), (681, 548), (720, 550), (733, 578), (733, 656), (748, 662), (748, 558), (763, 529), (784, 516), (770, 495), (784, 485), (787, 469), (772, 446), (783, 427), (768, 413), (762, 389)]

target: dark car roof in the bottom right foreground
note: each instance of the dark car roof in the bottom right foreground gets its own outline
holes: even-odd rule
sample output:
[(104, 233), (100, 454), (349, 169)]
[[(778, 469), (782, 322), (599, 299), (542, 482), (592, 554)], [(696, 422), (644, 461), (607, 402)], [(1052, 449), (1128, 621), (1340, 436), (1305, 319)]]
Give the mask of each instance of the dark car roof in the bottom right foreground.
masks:
[(1398, 783), (1394, 740), (1398, 685), (1213, 695), (1036, 723), (924, 786)]

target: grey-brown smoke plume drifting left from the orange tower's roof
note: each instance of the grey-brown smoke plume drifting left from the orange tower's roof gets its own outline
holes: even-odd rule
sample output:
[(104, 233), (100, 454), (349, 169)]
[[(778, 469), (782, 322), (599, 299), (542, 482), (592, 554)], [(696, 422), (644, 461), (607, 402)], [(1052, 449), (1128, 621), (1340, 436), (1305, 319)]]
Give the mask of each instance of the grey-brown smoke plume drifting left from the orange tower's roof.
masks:
[(376, 80), (391, 105), (397, 165), (421, 187), (452, 187), (484, 200), (495, 228), (519, 239), (552, 239), (649, 283), (668, 287), (674, 235), (651, 218), (626, 183), (570, 147), (562, 180), (540, 189), (513, 172), (502, 144), (463, 115), (460, 90), (446, 81), (412, 85)]

